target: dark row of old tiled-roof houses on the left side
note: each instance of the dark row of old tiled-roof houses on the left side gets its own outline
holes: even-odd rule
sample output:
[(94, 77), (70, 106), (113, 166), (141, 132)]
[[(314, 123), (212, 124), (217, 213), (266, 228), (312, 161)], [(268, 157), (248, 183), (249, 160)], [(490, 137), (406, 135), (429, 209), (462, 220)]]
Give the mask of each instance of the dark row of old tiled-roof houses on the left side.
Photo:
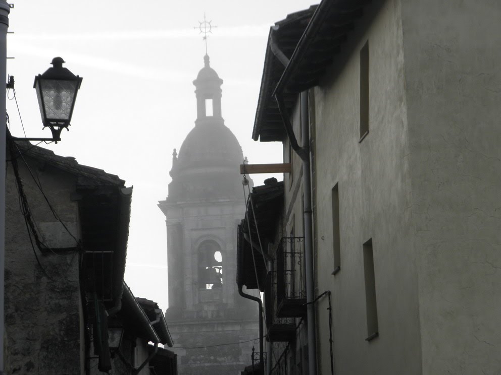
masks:
[[(162, 311), (123, 280), (132, 189), (7, 138), (6, 372), (149, 374), (148, 342), (173, 343)], [(156, 363), (175, 375), (175, 360), (162, 350)]]

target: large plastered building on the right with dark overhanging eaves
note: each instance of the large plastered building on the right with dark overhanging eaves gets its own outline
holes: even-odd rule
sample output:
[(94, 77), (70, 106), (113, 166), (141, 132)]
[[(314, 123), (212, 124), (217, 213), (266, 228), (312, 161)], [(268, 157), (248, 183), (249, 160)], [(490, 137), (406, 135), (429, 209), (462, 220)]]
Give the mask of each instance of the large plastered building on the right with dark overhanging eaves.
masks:
[(311, 164), (316, 309), (309, 370), (292, 366), (297, 325), (272, 373), (501, 370), (500, 12), (324, 0), (292, 51), (270, 32), (253, 138), (292, 163), (277, 238), (306, 228)]

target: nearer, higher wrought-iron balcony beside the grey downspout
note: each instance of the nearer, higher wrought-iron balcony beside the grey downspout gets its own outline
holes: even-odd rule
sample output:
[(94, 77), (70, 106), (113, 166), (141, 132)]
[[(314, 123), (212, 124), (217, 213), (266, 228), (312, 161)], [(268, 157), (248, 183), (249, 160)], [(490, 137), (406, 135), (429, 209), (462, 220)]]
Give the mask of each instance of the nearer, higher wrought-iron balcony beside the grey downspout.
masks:
[(277, 248), (278, 318), (306, 316), (304, 237), (283, 237)]

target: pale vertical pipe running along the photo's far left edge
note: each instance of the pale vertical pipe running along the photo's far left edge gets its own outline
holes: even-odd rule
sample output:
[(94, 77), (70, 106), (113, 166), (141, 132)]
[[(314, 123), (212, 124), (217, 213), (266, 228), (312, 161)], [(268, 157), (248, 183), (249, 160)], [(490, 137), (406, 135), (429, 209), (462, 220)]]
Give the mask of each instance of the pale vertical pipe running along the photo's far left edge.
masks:
[[(7, 28), (9, 26), (10, 8), (5, 0), (0, 1), (0, 77), (5, 80), (7, 71)], [(5, 81), (3, 81), (5, 82)], [(5, 86), (0, 90), (0, 114), (3, 116), (0, 128), (0, 375), (4, 373), (4, 273), (5, 273)]]

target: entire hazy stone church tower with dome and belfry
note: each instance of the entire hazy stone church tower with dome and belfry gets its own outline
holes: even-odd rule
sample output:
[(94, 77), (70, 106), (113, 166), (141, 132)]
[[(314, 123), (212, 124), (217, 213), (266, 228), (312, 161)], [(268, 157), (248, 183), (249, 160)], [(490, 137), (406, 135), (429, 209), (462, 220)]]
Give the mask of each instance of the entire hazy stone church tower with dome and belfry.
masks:
[(179, 155), (174, 150), (169, 195), (159, 202), (167, 224), (169, 329), (176, 346), (197, 348), (176, 350), (180, 374), (239, 374), (258, 346), (257, 304), (235, 283), (243, 154), (224, 124), (222, 83), (206, 54), (193, 81), (195, 126)]

